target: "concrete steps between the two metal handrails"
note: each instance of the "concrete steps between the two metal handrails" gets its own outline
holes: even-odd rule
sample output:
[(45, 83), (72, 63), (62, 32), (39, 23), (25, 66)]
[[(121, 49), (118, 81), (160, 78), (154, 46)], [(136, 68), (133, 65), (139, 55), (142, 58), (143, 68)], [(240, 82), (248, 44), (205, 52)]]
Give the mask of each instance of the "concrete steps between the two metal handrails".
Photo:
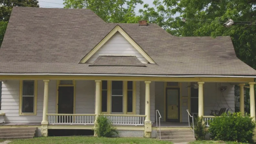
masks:
[(159, 140), (168, 140), (171, 142), (190, 142), (195, 141), (192, 130), (161, 130), (161, 139), (159, 130), (157, 130)]

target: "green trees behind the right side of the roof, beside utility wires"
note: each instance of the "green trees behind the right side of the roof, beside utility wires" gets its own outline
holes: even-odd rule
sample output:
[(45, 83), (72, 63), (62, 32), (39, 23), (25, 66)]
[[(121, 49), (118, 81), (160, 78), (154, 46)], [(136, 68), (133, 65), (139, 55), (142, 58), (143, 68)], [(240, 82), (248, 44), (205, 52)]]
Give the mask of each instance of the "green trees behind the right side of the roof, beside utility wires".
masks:
[[(175, 36), (231, 36), (238, 58), (256, 69), (256, 0), (155, 0), (153, 4), (139, 10), (144, 19)], [(229, 18), (235, 24), (226, 28), (223, 23)]]

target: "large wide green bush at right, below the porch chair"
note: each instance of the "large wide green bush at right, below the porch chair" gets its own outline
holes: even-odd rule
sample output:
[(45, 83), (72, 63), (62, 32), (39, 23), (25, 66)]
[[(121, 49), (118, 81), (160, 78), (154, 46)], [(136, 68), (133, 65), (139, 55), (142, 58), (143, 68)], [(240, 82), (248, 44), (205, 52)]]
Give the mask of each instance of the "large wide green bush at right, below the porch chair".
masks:
[(209, 122), (209, 132), (213, 140), (252, 142), (255, 122), (240, 113), (224, 113)]

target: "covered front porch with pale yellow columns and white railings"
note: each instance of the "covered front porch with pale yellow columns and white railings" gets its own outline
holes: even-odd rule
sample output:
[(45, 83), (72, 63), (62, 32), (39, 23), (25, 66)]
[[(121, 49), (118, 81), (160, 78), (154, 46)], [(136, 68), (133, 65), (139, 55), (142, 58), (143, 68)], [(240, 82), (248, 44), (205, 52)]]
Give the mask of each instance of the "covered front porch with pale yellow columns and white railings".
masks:
[[(144, 136), (150, 137), (152, 131), (157, 129), (156, 120), (159, 123), (159, 115), (156, 116), (155, 110), (160, 111), (161, 128), (188, 129), (187, 109), (191, 115), (204, 116), (207, 124), (207, 121), (213, 117), (209, 116), (210, 110), (218, 110), (220, 107), (234, 108), (231, 102), (220, 107), (213, 105), (215, 99), (211, 97), (219, 92), (219, 85), (227, 86), (228, 90), (223, 92), (223, 95), (230, 98), (227, 99), (228, 101), (232, 101), (232, 94), (230, 95), (230, 91), (234, 90), (232, 84), (240, 85), (240, 110), (244, 113), (242, 108), (244, 83), (250, 85), (251, 99), (254, 99), (255, 84), (253, 78), (65, 76), (49, 77), (49, 79), (45, 77), (44, 80), (40, 77), (22, 77), (18, 81), (13, 80), (12, 77), (12, 79), (6, 78), (3, 86), (6, 90), (11, 87), (15, 89), (13, 86), (19, 83), (17, 93), (22, 99), (23, 82), (31, 82), (31, 79), (34, 81), (34, 98), (37, 104), (34, 109), (37, 113), (23, 113), (22, 109), (25, 107), (22, 107), (24, 105), (18, 101), (19, 116), (10, 117), (13, 116), (10, 113), (13, 110), (9, 111), (3, 106), (3, 112), (6, 111), (3, 119), (5, 124), (9, 123), (9, 126), (20, 121), (19, 119), (23, 123), (38, 123), (43, 136), (48, 135), (48, 129), (93, 129), (97, 116), (103, 115), (111, 120), (117, 129), (143, 130)], [(118, 83), (113, 84), (114, 81), (121, 83), (122, 86), (118, 86)], [(250, 105), (254, 107), (254, 101), (250, 101)], [(251, 108), (251, 116), (255, 117), (254, 108)]]

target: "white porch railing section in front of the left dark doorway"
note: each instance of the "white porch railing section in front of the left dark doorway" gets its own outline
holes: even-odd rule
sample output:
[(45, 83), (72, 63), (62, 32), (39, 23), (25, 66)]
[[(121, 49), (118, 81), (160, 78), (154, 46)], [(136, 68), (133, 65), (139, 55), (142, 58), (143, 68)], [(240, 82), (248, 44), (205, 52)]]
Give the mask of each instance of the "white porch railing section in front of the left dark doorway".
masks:
[(51, 125), (94, 125), (95, 114), (47, 114)]

